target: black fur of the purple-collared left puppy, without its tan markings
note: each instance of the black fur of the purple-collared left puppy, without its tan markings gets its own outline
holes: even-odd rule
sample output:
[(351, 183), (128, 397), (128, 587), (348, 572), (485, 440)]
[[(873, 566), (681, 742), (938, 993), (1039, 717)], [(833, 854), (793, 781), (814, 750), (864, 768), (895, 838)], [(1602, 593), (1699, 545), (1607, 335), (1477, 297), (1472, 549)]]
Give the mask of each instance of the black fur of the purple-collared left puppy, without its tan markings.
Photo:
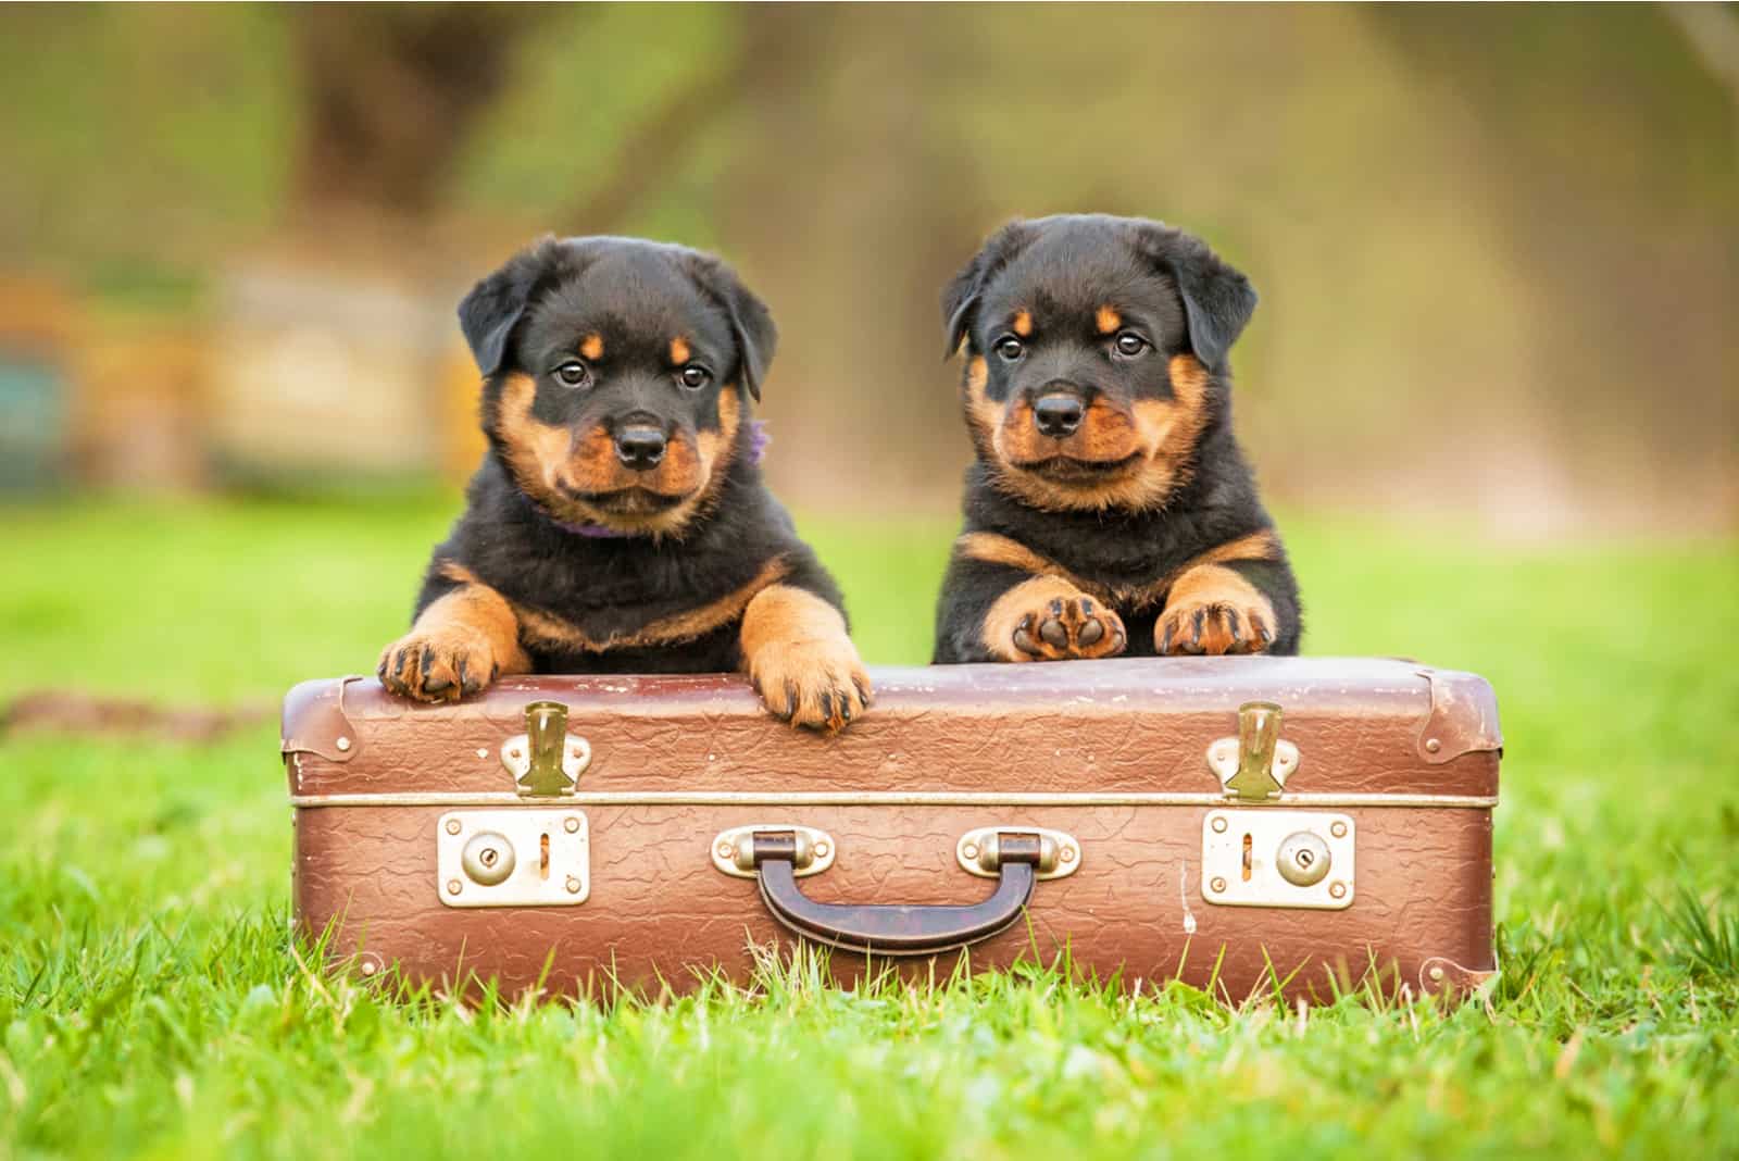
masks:
[[(501, 395), (510, 377), (536, 381), (532, 415), (576, 431), (612, 417), (652, 417), (670, 429), (720, 429), (722, 393), (758, 398), (776, 346), (767, 308), (710, 254), (633, 238), (546, 238), (485, 278), (459, 306), (459, 325), (483, 382), (490, 448), (466, 490), (466, 511), (433, 553), (416, 601), (421, 614), (457, 586), (456, 563), (510, 601), (577, 626), (588, 638), (631, 638), (649, 622), (701, 608), (781, 560), (790, 584), (842, 608), (838, 586), (796, 537), (744, 454), (744, 428), (711, 501), (670, 535), (588, 537), (527, 494), (510, 468)], [(553, 368), (588, 334), (602, 335), (595, 381), (576, 391)], [(671, 379), (671, 334), (716, 375), (701, 391)], [(741, 666), (730, 624), (676, 645), (548, 650), (527, 641), (537, 673), (713, 673)]]

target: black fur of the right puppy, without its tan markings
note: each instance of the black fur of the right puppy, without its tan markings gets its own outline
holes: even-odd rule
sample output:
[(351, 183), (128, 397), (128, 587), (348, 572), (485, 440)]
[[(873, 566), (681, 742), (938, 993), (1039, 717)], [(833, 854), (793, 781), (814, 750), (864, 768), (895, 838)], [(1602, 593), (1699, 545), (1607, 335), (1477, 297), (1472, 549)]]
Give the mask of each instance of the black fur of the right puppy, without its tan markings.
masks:
[[(1139, 315), (1160, 358), (1118, 360), (1108, 337), (1092, 330), (1094, 302), (1120, 301)], [(1087, 311), (1087, 330), (1035, 335), (1021, 365), (1002, 365), (995, 346), (1000, 320), (1014, 308), (1049, 308), (1050, 316)], [(1094, 391), (1129, 400), (1174, 396), (1169, 358), (1195, 355), (1209, 370), (1205, 422), (1193, 471), (1143, 509), (1071, 511), (1040, 508), (998, 487), (1010, 471), (984, 440), (965, 476), (965, 532), (1017, 541), (1071, 574), (1106, 589), (1139, 589), (1228, 541), (1273, 528), (1231, 429), (1228, 353), (1243, 330), (1256, 292), (1200, 240), (1143, 219), (1063, 216), (1017, 221), (998, 231), (943, 294), (949, 351), (986, 356), (986, 398), (1003, 401), (1043, 382), (1092, 381)], [(1069, 315), (1073, 311), (1073, 315)], [(1273, 561), (1228, 565), (1273, 605), (1278, 626), (1271, 653), (1296, 653), (1301, 620), (1297, 584), (1283, 551)], [(936, 664), (991, 660), (981, 638), (984, 615), (1005, 591), (1031, 574), (960, 553), (949, 563), (936, 619)], [(1144, 610), (1120, 607), (1129, 633), (1123, 655), (1156, 652), (1153, 626), (1163, 601)]]

